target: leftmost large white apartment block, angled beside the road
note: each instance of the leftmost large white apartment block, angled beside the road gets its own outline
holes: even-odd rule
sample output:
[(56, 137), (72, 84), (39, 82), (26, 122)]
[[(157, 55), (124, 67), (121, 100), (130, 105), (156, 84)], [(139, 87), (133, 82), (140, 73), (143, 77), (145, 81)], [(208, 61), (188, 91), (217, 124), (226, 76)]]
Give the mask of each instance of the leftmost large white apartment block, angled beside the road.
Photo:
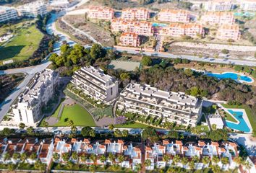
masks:
[(50, 69), (35, 75), (33, 83), (27, 86), (25, 92), (18, 97), (17, 104), (13, 105), (14, 121), (35, 125), (42, 117), (41, 108), (53, 97), (59, 75)]

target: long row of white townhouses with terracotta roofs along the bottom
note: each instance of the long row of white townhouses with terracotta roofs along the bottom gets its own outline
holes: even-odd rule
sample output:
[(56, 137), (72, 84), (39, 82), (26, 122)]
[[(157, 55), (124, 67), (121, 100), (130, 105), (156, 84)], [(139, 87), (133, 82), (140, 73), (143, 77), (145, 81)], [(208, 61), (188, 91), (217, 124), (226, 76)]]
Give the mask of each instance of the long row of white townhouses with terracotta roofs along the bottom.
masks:
[[(202, 169), (201, 160), (203, 157), (207, 157), (210, 162), (213, 156), (218, 156), (219, 159), (222, 157), (229, 159), (228, 164), (222, 165), (223, 169), (234, 169), (237, 166), (234, 158), (239, 154), (236, 143), (213, 141), (183, 143), (177, 140), (163, 140), (153, 143), (151, 146), (142, 146), (141, 143), (133, 143), (132, 141), (121, 139), (117, 141), (111, 139), (90, 141), (89, 138), (55, 137), (46, 139), (1, 138), (0, 144), (1, 163), (6, 164), (16, 164), (20, 161), (20, 157), (15, 157), (14, 154), (25, 154), (26, 162), (30, 164), (35, 163), (37, 160), (45, 164), (50, 164), (51, 161), (57, 163), (72, 161), (77, 164), (88, 165), (119, 164), (121, 167), (136, 169), (137, 164), (142, 164), (142, 160), (150, 160), (151, 164), (147, 165), (146, 169), (154, 169), (155, 166), (162, 168), (172, 165), (175, 156), (179, 156), (181, 159), (183, 157), (192, 159), (197, 156), (199, 161), (195, 163), (195, 168)], [(142, 149), (145, 152), (142, 152)], [(7, 154), (9, 155), (8, 157), (6, 156)], [(165, 156), (168, 156), (168, 160), (163, 159)], [(189, 169), (187, 167), (188, 163), (182, 165), (181, 160), (177, 162), (177, 166)], [(216, 164), (221, 165), (221, 161)]]

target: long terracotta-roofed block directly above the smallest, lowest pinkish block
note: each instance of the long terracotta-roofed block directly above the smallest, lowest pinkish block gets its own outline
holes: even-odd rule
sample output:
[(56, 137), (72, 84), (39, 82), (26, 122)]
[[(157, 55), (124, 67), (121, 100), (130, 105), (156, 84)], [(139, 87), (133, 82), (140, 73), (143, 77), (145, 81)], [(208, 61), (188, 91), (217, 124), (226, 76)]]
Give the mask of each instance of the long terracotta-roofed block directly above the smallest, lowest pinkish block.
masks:
[(137, 35), (153, 36), (153, 27), (150, 22), (112, 19), (112, 32), (135, 32)]

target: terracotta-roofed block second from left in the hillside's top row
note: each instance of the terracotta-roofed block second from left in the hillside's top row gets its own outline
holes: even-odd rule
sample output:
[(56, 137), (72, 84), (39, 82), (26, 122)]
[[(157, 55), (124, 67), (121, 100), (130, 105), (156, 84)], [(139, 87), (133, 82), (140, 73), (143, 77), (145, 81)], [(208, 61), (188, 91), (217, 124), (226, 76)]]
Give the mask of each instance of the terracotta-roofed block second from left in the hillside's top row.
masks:
[(121, 19), (126, 20), (147, 20), (150, 17), (148, 9), (139, 8), (139, 9), (123, 9), (121, 11)]

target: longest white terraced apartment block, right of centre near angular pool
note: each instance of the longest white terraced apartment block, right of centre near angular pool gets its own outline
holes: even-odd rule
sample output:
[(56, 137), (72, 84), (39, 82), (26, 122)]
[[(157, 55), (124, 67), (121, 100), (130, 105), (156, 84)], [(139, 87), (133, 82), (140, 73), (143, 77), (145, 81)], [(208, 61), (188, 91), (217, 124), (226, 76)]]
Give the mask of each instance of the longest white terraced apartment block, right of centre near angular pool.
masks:
[(120, 93), (117, 108), (195, 127), (201, 117), (202, 102), (182, 92), (165, 92), (147, 84), (131, 83)]

